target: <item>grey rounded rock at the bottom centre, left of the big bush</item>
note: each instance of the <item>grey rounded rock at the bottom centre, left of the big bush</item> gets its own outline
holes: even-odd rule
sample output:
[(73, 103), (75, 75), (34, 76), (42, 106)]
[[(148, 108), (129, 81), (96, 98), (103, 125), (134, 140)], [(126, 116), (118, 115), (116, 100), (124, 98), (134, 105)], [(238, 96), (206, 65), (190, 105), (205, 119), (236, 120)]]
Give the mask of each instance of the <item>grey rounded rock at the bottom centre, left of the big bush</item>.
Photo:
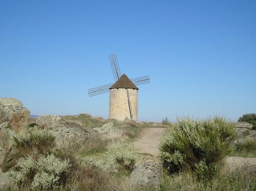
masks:
[(144, 162), (132, 171), (130, 176), (130, 183), (132, 185), (139, 185), (140, 187), (155, 187), (160, 189), (160, 167), (156, 162)]

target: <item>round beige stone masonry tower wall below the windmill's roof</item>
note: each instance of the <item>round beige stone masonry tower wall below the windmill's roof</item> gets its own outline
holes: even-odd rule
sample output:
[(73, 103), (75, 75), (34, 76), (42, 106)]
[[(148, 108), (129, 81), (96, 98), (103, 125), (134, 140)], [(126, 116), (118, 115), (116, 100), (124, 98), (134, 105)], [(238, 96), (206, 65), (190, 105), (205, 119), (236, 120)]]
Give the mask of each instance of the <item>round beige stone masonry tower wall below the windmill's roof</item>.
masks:
[[(137, 89), (128, 89), (132, 108), (133, 120), (137, 121)], [(127, 98), (127, 89), (110, 89), (109, 118), (124, 120), (130, 118), (130, 110)]]

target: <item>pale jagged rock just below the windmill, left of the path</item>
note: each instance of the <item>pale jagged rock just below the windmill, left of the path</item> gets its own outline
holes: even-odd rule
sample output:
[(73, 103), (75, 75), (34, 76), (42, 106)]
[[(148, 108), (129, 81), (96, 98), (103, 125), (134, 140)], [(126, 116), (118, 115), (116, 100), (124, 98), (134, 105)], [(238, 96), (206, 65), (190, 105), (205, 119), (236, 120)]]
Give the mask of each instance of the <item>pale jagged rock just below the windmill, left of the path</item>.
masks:
[(104, 124), (102, 127), (93, 128), (93, 130), (106, 139), (121, 138), (123, 134), (123, 130), (120, 127), (114, 127), (113, 122)]

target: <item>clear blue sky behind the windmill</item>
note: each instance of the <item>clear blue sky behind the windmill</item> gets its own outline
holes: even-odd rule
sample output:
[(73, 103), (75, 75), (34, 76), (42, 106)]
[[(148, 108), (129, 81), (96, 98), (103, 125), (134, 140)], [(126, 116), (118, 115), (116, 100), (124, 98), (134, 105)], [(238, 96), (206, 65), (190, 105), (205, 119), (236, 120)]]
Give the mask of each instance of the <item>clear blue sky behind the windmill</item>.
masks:
[(256, 1), (0, 1), (0, 97), (107, 118), (87, 89), (149, 75), (139, 120), (256, 113)]

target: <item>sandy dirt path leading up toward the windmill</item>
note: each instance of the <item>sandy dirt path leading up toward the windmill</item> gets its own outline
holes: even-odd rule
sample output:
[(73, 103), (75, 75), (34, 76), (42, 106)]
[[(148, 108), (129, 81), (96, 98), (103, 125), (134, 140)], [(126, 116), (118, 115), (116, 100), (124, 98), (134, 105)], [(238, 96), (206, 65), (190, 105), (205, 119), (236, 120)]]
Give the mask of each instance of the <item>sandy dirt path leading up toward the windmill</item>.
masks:
[(139, 153), (149, 153), (157, 156), (157, 144), (166, 132), (166, 128), (145, 128), (142, 129), (138, 138), (134, 141), (134, 147)]

